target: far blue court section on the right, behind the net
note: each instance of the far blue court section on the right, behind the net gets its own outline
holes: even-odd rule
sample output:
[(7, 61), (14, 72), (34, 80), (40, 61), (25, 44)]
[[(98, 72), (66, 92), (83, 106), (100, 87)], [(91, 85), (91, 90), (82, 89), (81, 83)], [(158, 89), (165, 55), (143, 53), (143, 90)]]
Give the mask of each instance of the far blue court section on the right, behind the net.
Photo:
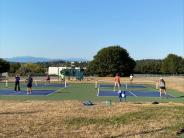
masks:
[[(126, 88), (125, 84), (122, 84), (121, 87)], [(99, 84), (98, 88), (114, 88), (113, 84)], [(127, 88), (146, 88), (144, 85), (138, 85), (138, 84), (129, 84), (127, 85)]]

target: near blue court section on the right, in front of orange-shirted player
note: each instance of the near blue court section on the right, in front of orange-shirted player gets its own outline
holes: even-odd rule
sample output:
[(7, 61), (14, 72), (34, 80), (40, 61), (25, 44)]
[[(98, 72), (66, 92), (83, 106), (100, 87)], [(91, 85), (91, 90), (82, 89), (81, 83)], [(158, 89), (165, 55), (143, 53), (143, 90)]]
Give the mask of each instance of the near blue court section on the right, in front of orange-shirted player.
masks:
[[(160, 92), (158, 91), (125, 91), (126, 96), (134, 96), (134, 97), (160, 97)], [(100, 90), (97, 96), (118, 96), (118, 92)], [(162, 94), (163, 97), (166, 97), (165, 94)], [(167, 94), (167, 98), (175, 98)]]

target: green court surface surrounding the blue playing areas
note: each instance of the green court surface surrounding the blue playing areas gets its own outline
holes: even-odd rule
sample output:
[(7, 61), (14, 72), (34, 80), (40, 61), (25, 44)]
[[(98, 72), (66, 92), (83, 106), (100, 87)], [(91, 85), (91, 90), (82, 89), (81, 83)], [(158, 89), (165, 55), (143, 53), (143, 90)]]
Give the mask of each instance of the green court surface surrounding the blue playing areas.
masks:
[[(14, 83), (9, 83), (8, 88), (5, 87), (4, 83), (0, 83), (0, 90), (3, 89), (14, 89)], [(22, 90), (26, 90), (26, 85), (21, 85)], [(112, 88), (105, 88), (112, 89)], [(135, 89), (135, 88), (132, 88)], [(67, 88), (64, 87), (33, 87), (33, 90), (55, 90), (53, 94), (48, 96), (32, 96), (32, 95), (0, 95), (0, 100), (92, 100), (92, 101), (107, 101), (119, 102), (117, 96), (97, 96), (98, 89), (92, 83), (74, 83), (69, 84)], [(131, 90), (131, 89), (130, 89)], [(146, 86), (143, 90), (155, 90), (152, 86)], [(176, 98), (160, 98), (160, 97), (134, 97), (128, 96), (127, 101), (129, 102), (182, 102), (184, 103), (184, 92), (178, 92), (176, 90), (168, 90), (168, 94), (175, 96)]]

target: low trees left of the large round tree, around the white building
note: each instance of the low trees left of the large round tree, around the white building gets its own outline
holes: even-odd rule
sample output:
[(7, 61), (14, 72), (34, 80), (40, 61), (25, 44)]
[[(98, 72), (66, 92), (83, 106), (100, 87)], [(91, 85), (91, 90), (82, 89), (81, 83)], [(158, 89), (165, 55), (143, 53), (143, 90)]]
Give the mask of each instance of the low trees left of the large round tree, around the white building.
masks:
[[(88, 62), (74, 62), (73, 65), (76, 67), (86, 67)], [(19, 62), (8, 62), (0, 59), (0, 73), (8, 72), (9, 75), (46, 75), (48, 72), (48, 67), (60, 67), (66, 66), (70, 67), (71, 62), (69, 61), (49, 61), (49, 62), (37, 62), (37, 63), (19, 63)]]

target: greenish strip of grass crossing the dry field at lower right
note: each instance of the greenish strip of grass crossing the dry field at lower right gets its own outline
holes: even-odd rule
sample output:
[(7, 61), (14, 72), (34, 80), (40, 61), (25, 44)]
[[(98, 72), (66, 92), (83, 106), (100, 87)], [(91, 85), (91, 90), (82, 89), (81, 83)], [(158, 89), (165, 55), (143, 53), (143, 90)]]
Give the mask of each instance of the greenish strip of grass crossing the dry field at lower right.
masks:
[[(110, 117), (110, 118), (84, 118), (84, 117), (77, 117), (77, 118), (70, 118), (66, 119), (65, 122), (71, 126), (85, 126), (90, 124), (96, 125), (120, 125), (120, 124), (129, 124), (130, 122), (137, 122), (140, 125), (144, 124), (144, 120), (156, 120), (159, 117), (171, 117), (170, 111), (175, 112), (173, 114), (173, 118), (177, 119), (177, 128), (183, 125), (184, 122), (180, 122), (181, 118), (183, 117), (184, 110), (182, 106), (176, 107), (152, 107), (146, 108), (142, 111), (138, 112), (130, 112), (120, 116)], [(184, 120), (183, 120), (184, 121)]]

